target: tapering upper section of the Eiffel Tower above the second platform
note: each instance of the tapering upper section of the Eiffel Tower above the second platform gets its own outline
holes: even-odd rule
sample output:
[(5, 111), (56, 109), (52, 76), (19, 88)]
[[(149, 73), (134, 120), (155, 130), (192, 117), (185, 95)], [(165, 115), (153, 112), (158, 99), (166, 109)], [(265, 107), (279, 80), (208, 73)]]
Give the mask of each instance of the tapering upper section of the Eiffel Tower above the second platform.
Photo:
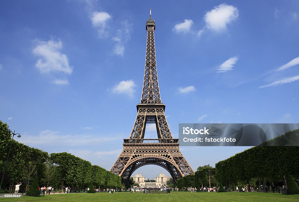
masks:
[(147, 50), (145, 54), (144, 81), (141, 95), (141, 104), (161, 103), (155, 50), (155, 20), (152, 19), (152, 9), (149, 9), (149, 19), (146, 23)]

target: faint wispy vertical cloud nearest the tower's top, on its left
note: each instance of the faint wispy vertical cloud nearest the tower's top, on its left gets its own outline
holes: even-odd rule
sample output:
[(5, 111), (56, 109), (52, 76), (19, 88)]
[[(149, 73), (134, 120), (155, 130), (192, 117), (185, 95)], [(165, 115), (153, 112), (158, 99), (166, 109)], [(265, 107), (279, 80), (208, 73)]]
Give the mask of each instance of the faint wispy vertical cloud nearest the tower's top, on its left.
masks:
[(128, 20), (124, 20), (121, 24), (123, 27), (117, 31), (116, 36), (112, 40), (115, 42), (114, 54), (123, 56), (125, 50), (124, 43), (130, 39), (132, 24)]

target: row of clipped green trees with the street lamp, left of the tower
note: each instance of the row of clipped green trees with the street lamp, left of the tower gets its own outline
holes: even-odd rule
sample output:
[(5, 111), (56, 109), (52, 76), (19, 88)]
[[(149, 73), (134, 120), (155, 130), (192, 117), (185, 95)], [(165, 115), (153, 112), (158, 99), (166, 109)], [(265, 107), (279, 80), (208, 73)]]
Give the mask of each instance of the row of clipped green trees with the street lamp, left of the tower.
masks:
[[(25, 189), (35, 176), (40, 185), (58, 188), (64, 186), (81, 190), (93, 183), (96, 187), (121, 187), (121, 177), (97, 165), (91, 165), (72, 154), (48, 154), (40, 149), (31, 148), (15, 140), (11, 142), (8, 125), (0, 120), (0, 175), (2, 177), (10, 143), (12, 143), (8, 164), (4, 175), (2, 189), (8, 189), (22, 181)], [(24, 183), (26, 182), (26, 183)], [(61, 190), (62, 191), (62, 190)]]

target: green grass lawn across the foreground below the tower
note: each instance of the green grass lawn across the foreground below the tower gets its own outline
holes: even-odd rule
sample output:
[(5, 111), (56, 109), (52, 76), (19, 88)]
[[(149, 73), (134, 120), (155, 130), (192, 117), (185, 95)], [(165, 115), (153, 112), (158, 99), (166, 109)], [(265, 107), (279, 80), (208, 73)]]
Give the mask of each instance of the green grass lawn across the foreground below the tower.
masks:
[(0, 198), (0, 201), (299, 201), (299, 195), (278, 193), (237, 192), (171, 192), (170, 194), (141, 194), (140, 192), (55, 194), (41, 197)]

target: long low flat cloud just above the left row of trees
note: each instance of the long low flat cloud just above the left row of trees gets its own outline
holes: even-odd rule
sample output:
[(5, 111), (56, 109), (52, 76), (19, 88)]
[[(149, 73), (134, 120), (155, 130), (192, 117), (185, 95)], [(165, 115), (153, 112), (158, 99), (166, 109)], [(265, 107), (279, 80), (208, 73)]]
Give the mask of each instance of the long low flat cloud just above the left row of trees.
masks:
[[(34, 147), (40, 147), (41, 145), (49, 146), (84, 146), (84, 145), (103, 145), (103, 142), (114, 141), (122, 139), (120, 135), (114, 135), (113, 137), (98, 135), (98, 134), (61, 134), (57, 131), (44, 130), (39, 133), (37, 136), (26, 135), (26, 138), (21, 138), (20, 142), (25, 145), (30, 145)], [(45, 141), (45, 139), (47, 141)]]

